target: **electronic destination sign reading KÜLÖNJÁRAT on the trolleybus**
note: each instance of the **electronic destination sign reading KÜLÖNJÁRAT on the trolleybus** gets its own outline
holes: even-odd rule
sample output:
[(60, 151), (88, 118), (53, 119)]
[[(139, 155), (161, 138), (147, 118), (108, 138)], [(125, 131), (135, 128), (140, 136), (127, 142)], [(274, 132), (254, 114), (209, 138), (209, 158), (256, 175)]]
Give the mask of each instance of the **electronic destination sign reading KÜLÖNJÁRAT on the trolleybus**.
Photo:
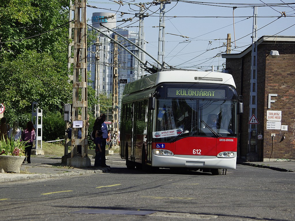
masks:
[(183, 89), (168, 88), (168, 98), (226, 98), (225, 90), (221, 89)]

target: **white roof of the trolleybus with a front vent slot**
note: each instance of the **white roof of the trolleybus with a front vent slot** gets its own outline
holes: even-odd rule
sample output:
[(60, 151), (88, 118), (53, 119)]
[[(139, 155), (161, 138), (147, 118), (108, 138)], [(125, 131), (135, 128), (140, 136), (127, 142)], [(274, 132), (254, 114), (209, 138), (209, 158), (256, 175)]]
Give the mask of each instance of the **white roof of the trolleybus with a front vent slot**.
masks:
[(128, 83), (123, 95), (152, 88), (160, 83), (210, 83), (236, 88), (232, 75), (222, 72), (162, 69), (161, 71)]

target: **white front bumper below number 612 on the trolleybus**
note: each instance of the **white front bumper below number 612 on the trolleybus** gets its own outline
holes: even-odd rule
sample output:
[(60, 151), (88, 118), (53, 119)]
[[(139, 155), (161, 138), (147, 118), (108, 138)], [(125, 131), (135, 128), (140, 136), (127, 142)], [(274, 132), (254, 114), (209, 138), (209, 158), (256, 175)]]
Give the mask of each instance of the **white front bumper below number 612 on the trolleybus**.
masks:
[(216, 156), (159, 156), (152, 153), (152, 166), (236, 169), (237, 157), (217, 158)]

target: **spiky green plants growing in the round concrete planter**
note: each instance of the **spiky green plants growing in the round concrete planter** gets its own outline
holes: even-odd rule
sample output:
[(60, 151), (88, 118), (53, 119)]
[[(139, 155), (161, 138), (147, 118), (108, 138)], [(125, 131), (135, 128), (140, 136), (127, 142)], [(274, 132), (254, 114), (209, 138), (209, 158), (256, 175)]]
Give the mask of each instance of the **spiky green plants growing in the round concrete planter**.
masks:
[(20, 140), (5, 140), (2, 138), (0, 140), (0, 155), (4, 156), (25, 156), (24, 148), (27, 142)]

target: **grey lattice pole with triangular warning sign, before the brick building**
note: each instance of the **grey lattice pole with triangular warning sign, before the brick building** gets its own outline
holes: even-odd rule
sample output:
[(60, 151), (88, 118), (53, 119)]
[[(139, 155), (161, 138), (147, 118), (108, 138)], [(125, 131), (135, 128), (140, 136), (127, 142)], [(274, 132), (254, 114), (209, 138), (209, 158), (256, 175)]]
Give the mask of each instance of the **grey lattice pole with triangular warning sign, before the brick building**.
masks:
[[(257, 7), (253, 8), (253, 32), (252, 32), (252, 53), (251, 53), (251, 76), (250, 76), (250, 103), (249, 120), (257, 116)], [(257, 124), (249, 124), (248, 128), (248, 154), (247, 161), (258, 161), (257, 154)]]

